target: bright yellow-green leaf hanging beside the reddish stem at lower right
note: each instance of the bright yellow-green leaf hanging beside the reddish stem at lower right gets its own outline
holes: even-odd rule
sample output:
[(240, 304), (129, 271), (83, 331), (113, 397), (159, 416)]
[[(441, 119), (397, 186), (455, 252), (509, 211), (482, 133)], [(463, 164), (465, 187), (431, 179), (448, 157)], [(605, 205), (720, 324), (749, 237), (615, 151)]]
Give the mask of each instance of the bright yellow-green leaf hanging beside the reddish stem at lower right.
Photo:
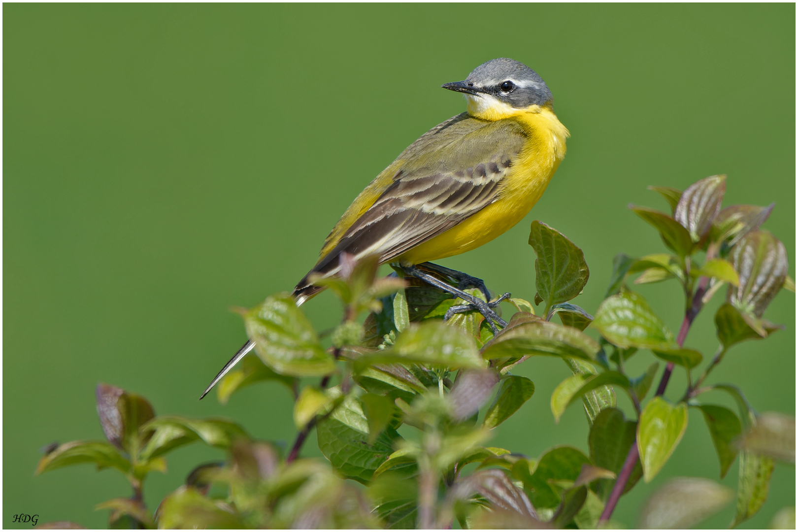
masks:
[(654, 397), (640, 414), (638, 449), (643, 476), (650, 482), (673, 454), (687, 428), (687, 405), (671, 406)]

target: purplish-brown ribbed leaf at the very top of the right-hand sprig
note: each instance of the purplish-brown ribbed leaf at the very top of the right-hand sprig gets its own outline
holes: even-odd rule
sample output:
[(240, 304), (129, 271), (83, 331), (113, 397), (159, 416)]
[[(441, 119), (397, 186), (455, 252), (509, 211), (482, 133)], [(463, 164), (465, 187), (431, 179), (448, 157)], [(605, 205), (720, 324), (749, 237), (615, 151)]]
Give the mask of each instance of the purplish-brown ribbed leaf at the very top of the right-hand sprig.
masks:
[(693, 242), (709, 234), (712, 222), (721, 211), (726, 192), (726, 176), (710, 175), (687, 187), (674, 209), (674, 219), (689, 231)]

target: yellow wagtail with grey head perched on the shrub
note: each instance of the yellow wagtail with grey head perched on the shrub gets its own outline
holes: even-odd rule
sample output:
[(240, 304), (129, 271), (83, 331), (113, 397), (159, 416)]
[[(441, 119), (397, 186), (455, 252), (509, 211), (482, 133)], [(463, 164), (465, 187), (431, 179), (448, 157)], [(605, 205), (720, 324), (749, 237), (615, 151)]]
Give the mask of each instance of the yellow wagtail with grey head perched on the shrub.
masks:
[[(570, 134), (557, 120), (546, 83), (519, 61), (494, 59), (465, 81), (441, 86), (464, 93), (468, 112), (430, 129), (365, 187), (294, 288), (298, 305), (323, 290), (309, 276), (337, 274), (342, 253), (377, 255), (381, 264), (395, 263), (406, 275), (468, 301), (457, 310), (478, 309), (495, 332), (495, 324), (507, 325), (492, 309), (510, 294), (491, 301), (480, 279), (429, 261), (482, 246), (519, 223), (546, 190)], [(487, 301), (461, 290), (468, 286)], [(247, 341), (203, 396), (253, 347)]]

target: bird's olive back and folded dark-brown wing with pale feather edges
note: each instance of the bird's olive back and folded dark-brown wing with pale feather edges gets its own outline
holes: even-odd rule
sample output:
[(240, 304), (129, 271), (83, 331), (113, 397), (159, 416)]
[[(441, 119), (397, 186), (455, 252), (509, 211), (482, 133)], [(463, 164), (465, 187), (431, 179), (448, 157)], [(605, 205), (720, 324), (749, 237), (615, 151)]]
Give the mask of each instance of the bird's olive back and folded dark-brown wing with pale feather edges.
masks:
[[(344, 251), (390, 262), (476, 214), (496, 201), (525, 140), (523, 128), (508, 120), (486, 122), (463, 113), (437, 125), (355, 199), (310, 273), (335, 274)], [(295, 293), (312, 288), (306, 276)]]

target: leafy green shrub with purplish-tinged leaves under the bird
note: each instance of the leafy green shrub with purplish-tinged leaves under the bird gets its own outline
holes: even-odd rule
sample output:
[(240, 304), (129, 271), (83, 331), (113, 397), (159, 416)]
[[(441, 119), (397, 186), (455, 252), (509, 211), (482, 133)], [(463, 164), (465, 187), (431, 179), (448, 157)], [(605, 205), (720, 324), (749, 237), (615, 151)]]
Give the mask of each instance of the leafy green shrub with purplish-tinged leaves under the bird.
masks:
[[(446, 528), (455, 521), (464, 528), (595, 528), (608, 524), (635, 483), (658, 475), (692, 410), (709, 428), (721, 478), (740, 457), (736, 526), (760, 510), (774, 461), (795, 462), (795, 420), (757, 414), (739, 388), (709, 377), (734, 345), (783, 329), (764, 311), (777, 292), (795, 286), (784, 246), (760, 229), (772, 206), (721, 209), (722, 175), (684, 192), (652, 188), (670, 203), (670, 214), (630, 208), (670, 252), (618, 254), (595, 315), (569, 302), (589, 278), (582, 250), (537, 221), (529, 243), (537, 255), (533, 300), (543, 313), (510, 298), (517, 312), (497, 334), (476, 311), (444, 321), (462, 299), (401, 274), (378, 279), (376, 259), (345, 257), (341, 277), (316, 280), (343, 305), (332, 346), (324, 347), (289, 294), (272, 295), (242, 311), (255, 353), (217, 388), (222, 403), (261, 381), (289, 388), (298, 434), (285, 456), (232, 421), (156, 416), (143, 397), (100, 384), (97, 413), (107, 441), (49, 449), (37, 473), (75, 463), (120, 471), (132, 497), (97, 506), (110, 510), (114, 528)], [(633, 285), (674, 281), (685, 301), (675, 336), (630, 289), (632, 278)], [(705, 362), (685, 339), (723, 288), (726, 302), (715, 315), (719, 346)], [(479, 290), (469, 293), (484, 298)], [(637, 376), (626, 372), (635, 355), (650, 357)], [(559, 420), (571, 404), (583, 405), (587, 452), (559, 446), (531, 458), (484, 446), (491, 430), (535, 393), (535, 384), (513, 368), (536, 356), (559, 357), (570, 369), (551, 396), (551, 412)], [(671, 404), (662, 394), (677, 366), (688, 385)], [(705, 404), (701, 396), (710, 390), (728, 393), (739, 412)], [(634, 412), (618, 408), (618, 392), (629, 396)], [(404, 431), (412, 437), (397, 432), (402, 424), (416, 429)], [(326, 460), (299, 457), (313, 429)], [(196, 467), (151, 513), (144, 480), (165, 470), (168, 452), (196, 441), (226, 450), (227, 460)], [(640, 525), (692, 526), (732, 498), (713, 480), (670, 479), (646, 502)], [(785, 509), (773, 522), (792, 518), (794, 526), (794, 516)]]

